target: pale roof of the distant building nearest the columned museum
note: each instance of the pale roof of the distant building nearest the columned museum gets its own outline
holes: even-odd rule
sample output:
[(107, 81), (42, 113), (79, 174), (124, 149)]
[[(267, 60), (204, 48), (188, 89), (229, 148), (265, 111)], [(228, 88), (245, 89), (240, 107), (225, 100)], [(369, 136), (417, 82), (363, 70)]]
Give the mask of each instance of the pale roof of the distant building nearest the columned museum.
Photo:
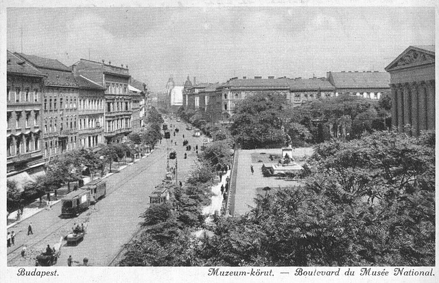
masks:
[(378, 71), (342, 71), (329, 72), (328, 79), (332, 77), (334, 87), (343, 88), (388, 88), (390, 73)]

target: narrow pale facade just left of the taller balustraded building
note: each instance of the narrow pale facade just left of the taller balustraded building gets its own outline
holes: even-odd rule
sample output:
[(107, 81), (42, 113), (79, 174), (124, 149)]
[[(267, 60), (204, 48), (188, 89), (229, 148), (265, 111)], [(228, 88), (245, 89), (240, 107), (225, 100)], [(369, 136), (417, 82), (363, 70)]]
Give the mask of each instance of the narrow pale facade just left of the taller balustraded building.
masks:
[(78, 97), (78, 144), (80, 148), (95, 148), (104, 143), (105, 88), (76, 75), (80, 88)]

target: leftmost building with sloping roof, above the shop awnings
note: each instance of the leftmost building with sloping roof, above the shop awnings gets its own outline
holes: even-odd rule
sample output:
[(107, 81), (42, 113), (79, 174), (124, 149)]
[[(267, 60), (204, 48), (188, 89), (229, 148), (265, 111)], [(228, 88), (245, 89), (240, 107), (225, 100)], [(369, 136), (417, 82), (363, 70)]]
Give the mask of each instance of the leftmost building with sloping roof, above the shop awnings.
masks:
[(44, 170), (41, 98), (45, 75), (7, 52), (6, 63), (7, 177)]

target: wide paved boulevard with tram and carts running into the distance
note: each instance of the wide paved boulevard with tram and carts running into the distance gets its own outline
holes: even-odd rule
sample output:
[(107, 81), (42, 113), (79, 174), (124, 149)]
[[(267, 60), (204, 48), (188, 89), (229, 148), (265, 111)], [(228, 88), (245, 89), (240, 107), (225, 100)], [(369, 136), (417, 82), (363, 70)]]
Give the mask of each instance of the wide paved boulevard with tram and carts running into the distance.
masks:
[[(183, 180), (191, 170), (193, 161), (196, 158), (195, 151), (187, 152), (188, 158), (184, 159), (185, 147), (182, 146), (182, 135), (189, 140), (194, 148), (196, 144), (200, 147), (201, 137), (192, 137), (186, 131), (183, 123), (168, 122), (177, 124), (180, 129), (175, 137), (171, 134), (172, 146), (178, 155), (178, 179)], [(173, 128), (171, 128), (173, 130)], [(27, 245), (27, 256), (19, 256), (20, 249), (8, 254), (8, 266), (29, 266), (33, 265), (34, 258), (40, 251), (45, 249), (47, 244), (54, 245), (71, 231), (73, 223), (85, 223), (86, 236), (78, 246), (68, 247), (63, 242), (61, 256), (56, 265), (66, 266), (69, 255), (74, 260), (81, 260), (86, 257), (93, 266), (107, 266), (114, 258), (123, 244), (128, 242), (132, 235), (139, 229), (139, 216), (148, 207), (149, 196), (154, 187), (161, 183), (165, 177), (167, 147), (170, 147), (170, 140), (163, 139), (152, 154), (132, 166), (112, 174), (107, 180), (107, 196), (99, 201), (93, 208), (82, 213), (77, 218), (59, 218), (61, 211), (60, 203), (54, 205), (52, 210), (40, 212), (24, 220), (19, 225), (8, 229), (8, 231), (21, 231), (16, 236), (16, 247)], [(171, 160), (169, 166), (174, 167), (176, 160)], [(34, 235), (27, 236), (27, 226), (33, 223)], [(14, 249), (14, 248), (12, 248)], [(8, 250), (10, 252), (12, 249)]]

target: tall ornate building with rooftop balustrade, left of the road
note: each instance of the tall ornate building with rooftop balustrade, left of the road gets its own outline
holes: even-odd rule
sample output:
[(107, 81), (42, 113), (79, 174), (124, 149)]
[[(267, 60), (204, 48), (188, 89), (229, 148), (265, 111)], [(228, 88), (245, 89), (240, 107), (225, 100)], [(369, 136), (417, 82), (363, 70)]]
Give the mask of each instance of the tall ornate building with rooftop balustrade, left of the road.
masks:
[(77, 75), (105, 87), (104, 137), (107, 144), (120, 143), (132, 132), (132, 96), (128, 92), (128, 66), (117, 67), (92, 60), (80, 59), (73, 66)]

